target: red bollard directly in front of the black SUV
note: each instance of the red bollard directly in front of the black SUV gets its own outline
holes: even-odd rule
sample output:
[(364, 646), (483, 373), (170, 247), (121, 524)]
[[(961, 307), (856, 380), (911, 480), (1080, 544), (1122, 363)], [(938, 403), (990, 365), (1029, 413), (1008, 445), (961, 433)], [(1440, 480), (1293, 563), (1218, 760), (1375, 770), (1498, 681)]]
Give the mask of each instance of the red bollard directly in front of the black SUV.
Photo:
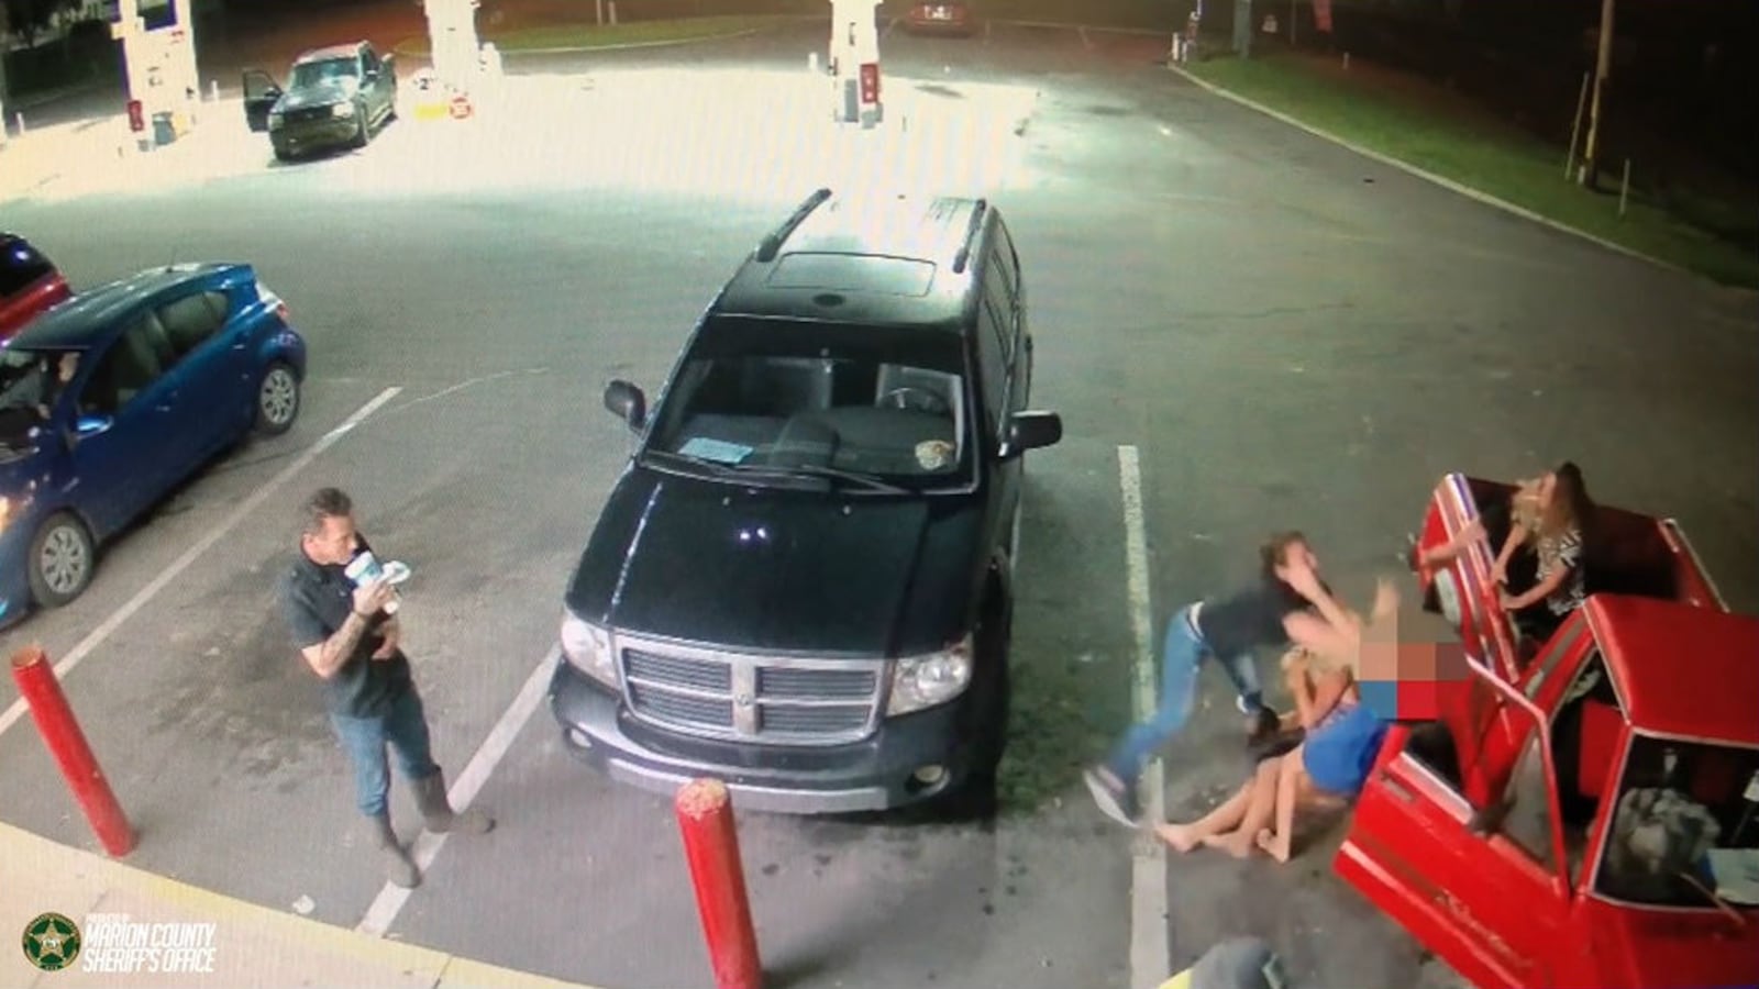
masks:
[(674, 801), (677, 827), (684, 834), (690, 882), (697, 887), (697, 912), (709, 941), (709, 964), (716, 989), (762, 989), (758, 934), (751, 927), (746, 871), (739, 864), (739, 832), (734, 804), (719, 780), (691, 780)]

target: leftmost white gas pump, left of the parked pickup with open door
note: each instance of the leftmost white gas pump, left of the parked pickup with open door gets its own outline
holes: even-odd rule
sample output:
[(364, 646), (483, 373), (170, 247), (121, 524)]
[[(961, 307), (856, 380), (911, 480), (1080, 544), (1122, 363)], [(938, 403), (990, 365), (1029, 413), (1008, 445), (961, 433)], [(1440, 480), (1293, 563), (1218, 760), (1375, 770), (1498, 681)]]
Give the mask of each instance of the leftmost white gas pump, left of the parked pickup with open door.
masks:
[(176, 141), (195, 120), (201, 77), (195, 70), (195, 23), (186, 0), (165, 4), (164, 23), (146, 26), (139, 0), (118, 0), (113, 37), (121, 39), (128, 76), (128, 128), (141, 148)]

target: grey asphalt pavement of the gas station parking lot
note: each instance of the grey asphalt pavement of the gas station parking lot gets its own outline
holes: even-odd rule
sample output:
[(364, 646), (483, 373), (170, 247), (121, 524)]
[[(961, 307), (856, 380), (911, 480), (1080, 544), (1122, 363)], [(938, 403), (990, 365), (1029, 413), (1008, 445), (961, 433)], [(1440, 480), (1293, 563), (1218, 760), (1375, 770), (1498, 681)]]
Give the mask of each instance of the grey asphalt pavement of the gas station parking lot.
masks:
[[(1156, 639), (1173, 607), (1245, 577), (1270, 528), (1309, 531), (1340, 591), (1367, 600), (1442, 472), (1513, 477), (1562, 458), (1602, 502), (1676, 516), (1731, 604), (1759, 602), (1752, 296), (1219, 100), (1156, 65), (1152, 37), (888, 35), (888, 88), (938, 106), (918, 116), (936, 127), (827, 139), (816, 171), (779, 167), (774, 143), (800, 125), (777, 114), (647, 102), (686, 79), (770, 93), (777, 74), (806, 79), (816, 44), (804, 25), (670, 53), (510, 58), (519, 84), (573, 93), (545, 104), (566, 109), (528, 128), (405, 118), (362, 151), (290, 167), (234, 134), (215, 139), (229, 157), (202, 181), (167, 172), (130, 194), (127, 178), (63, 178), (9, 204), (9, 227), (77, 283), (252, 260), (311, 341), (290, 435), (176, 494), (79, 602), (0, 634), (5, 653), (39, 641), (79, 656), (65, 688), (142, 831), (132, 864), (556, 978), (709, 985), (667, 802), (570, 760), (549, 713), (522, 702), (628, 449), (603, 384), (656, 387), (756, 238), (816, 179), (837, 185), (874, 157), (909, 158), (916, 181), (939, 169), (985, 187), (1006, 211), (1038, 340), (1034, 405), (1062, 412), (1068, 435), (1031, 461), (1011, 806), (989, 827), (748, 815), (777, 984), (1129, 984), (1129, 836), (1077, 778), (1122, 727), (1136, 658), (1120, 447), (1142, 463)], [(1024, 128), (1010, 120), (1020, 106)], [(355, 494), (375, 546), (413, 565), (408, 648), (438, 760), (454, 780), (473, 773), (500, 818), (447, 839), (406, 899), (383, 896), (347, 836), (347, 767), (273, 611), (294, 507), (331, 482)], [(1175, 815), (1245, 771), (1224, 692), (1207, 686), (1166, 753)], [(0, 781), (5, 822), (95, 846), (28, 718), (0, 734)], [(408, 832), (401, 788), (394, 815)], [(1330, 875), (1326, 848), (1282, 868), (1173, 857), (1170, 970), (1258, 933), (1316, 987), (1434, 978)]]

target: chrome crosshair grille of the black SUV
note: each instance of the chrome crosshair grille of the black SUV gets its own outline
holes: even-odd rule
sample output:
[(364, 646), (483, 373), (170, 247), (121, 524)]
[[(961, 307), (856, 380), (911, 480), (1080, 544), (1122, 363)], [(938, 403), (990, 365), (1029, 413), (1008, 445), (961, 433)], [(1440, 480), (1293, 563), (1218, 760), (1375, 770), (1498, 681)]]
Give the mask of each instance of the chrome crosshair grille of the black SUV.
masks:
[(872, 662), (744, 656), (642, 644), (619, 649), (630, 711), (697, 736), (797, 744), (864, 737), (880, 702)]

